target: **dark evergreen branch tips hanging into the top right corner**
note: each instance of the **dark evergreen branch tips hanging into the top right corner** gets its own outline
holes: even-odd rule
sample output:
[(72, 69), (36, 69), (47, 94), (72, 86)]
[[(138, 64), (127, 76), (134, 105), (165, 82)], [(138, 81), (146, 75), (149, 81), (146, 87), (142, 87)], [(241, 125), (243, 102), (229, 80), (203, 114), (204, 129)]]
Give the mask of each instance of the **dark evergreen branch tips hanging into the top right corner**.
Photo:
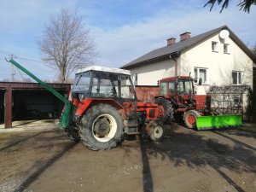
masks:
[[(215, 3), (218, 3), (218, 5), (222, 3), (221, 10), (220, 10), (220, 12), (222, 12), (224, 8), (225, 9), (228, 8), (230, 1), (231, 0), (208, 0), (208, 2), (205, 4), (204, 7), (206, 7), (207, 5), (210, 5), (211, 6), (210, 10), (212, 10)], [(247, 13), (250, 12), (250, 8), (252, 5), (256, 5), (256, 0), (241, 0), (240, 3), (237, 4), (237, 6), (240, 6), (240, 10), (243, 10)]]

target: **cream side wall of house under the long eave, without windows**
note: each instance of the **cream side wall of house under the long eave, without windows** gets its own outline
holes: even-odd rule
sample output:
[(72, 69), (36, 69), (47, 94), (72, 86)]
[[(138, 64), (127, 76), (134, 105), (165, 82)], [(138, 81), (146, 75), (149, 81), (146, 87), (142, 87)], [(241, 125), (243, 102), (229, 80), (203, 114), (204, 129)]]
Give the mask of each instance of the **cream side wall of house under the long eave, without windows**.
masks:
[(171, 59), (129, 70), (132, 74), (137, 73), (137, 85), (157, 85), (158, 80), (175, 74), (174, 61)]

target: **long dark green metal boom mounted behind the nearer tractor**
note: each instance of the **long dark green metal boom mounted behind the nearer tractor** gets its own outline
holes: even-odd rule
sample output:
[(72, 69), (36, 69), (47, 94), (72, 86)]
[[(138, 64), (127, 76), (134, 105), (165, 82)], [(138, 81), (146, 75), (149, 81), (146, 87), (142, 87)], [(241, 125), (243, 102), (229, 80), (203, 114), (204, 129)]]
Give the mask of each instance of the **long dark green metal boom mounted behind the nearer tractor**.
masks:
[(64, 111), (61, 115), (60, 126), (61, 126), (62, 129), (67, 128), (67, 126), (69, 125), (70, 119), (71, 119), (71, 111), (73, 109), (76, 109), (77, 107), (74, 106), (71, 102), (69, 102), (68, 99), (65, 96), (62, 96), (58, 91), (56, 91), (55, 89), (50, 87), (49, 84), (46, 84), (41, 79), (38, 79), (38, 77), (36, 77), (31, 72), (29, 72), (25, 67), (20, 66), (20, 64), (17, 63), (15, 60), (11, 59), (11, 60), (9, 60), (9, 62), (11, 62), (15, 67), (18, 67), (22, 72), (26, 73), (28, 76), (30, 76), (32, 79), (37, 81), (39, 84), (44, 86), (44, 88), (46, 90), (49, 90), (49, 92), (51, 92), (53, 95), (58, 97), (62, 102), (65, 102), (65, 108), (64, 108)]

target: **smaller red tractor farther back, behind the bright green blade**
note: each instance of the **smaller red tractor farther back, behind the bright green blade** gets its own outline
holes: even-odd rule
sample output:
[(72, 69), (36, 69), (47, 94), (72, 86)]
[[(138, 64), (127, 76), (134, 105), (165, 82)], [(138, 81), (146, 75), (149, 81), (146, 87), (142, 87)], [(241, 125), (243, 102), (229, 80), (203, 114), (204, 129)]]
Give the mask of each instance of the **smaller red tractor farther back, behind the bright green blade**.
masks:
[(155, 96), (155, 103), (165, 108), (166, 123), (174, 117), (194, 129), (197, 117), (211, 113), (211, 96), (196, 95), (194, 79), (190, 76), (161, 79), (159, 84), (160, 92), (159, 96)]

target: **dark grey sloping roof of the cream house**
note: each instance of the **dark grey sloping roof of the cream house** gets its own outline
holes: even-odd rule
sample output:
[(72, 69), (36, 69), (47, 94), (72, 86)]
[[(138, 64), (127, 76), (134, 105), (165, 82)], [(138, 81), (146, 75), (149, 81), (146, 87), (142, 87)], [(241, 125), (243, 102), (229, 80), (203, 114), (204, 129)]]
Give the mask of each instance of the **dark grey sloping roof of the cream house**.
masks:
[(207, 38), (210, 38), (211, 36), (217, 34), (218, 32), (220, 32), (223, 29), (226, 29), (230, 32), (230, 38), (233, 39), (236, 42), (236, 44), (238, 44), (238, 46), (240, 46), (241, 49), (243, 49), (245, 51), (245, 53), (250, 58), (252, 58), (253, 62), (255, 63), (256, 55), (253, 55), (253, 52), (247, 48), (247, 45), (243, 44), (241, 42), (240, 38), (238, 38), (236, 36), (236, 34), (234, 32), (232, 32), (228, 26), (220, 26), (216, 29), (213, 29), (212, 31), (204, 32), (204, 33), (197, 35), (193, 38), (189, 38), (187, 40), (177, 42), (176, 44), (165, 46), (160, 49), (154, 49), (154, 50), (150, 51), (149, 53), (137, 58), (134, 61), (131, 61), (131, 62), (125, 64), (124, 66), (122, 66), (120, 68), (130, 69), (130, 68), (142, 66), (142, 65), (154, 62), (154, 61), (166, 60), (166, 59), (169, 59), (171, 55), (174, 55), (177, 57), (181, 53), (181, 51), (183, 51), (185, 49), (189, 49), (193, 45), (198, 44)]

